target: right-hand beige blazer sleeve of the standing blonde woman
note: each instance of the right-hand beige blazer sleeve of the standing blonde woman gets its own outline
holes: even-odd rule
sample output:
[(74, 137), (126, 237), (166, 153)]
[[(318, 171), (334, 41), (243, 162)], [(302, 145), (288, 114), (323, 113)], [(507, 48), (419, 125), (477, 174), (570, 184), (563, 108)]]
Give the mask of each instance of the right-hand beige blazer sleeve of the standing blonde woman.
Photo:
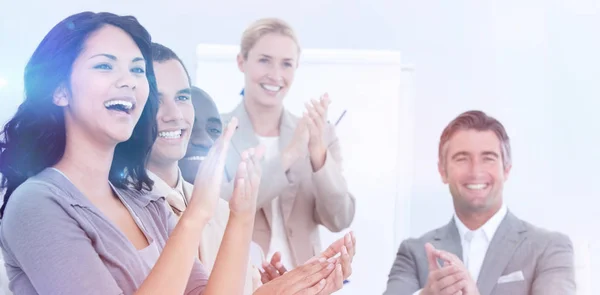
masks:
[(315, 221), (332, 232), (348, 228), (356, 213), (355, 198), (342, 174), (342, 151), (334, 127), (328, 125), (330, 143), (325, 164), (312, 173), (316, 200)]

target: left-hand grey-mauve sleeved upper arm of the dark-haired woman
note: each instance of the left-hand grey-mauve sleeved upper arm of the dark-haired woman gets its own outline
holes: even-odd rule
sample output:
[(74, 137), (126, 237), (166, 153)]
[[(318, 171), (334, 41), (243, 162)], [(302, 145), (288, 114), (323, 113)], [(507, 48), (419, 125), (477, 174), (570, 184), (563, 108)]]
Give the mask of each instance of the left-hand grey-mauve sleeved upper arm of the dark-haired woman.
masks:
[(14, 259), (25, 272), (12, 278), (13, 292), (123, 294), (84, 230), (52, 198), (55, 192), (25, 185), (11, 197), (1, 227), (6, 261)]

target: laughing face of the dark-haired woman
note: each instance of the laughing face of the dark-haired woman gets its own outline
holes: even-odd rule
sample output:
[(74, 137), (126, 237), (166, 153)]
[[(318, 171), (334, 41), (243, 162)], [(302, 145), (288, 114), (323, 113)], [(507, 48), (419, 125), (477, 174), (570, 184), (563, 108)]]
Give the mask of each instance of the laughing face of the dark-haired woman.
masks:
[(105, 25), (92, 33), (72, 66), (69, 85), (54, 93), (70, 134), (116, 145), (131, 137), (149, 95), (145, 60), (123, 30)]

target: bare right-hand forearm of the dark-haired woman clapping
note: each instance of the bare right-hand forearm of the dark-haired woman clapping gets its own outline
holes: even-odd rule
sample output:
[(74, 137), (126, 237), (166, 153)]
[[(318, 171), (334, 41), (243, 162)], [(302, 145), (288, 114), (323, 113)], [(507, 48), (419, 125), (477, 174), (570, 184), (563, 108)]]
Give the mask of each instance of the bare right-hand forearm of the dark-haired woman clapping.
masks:
[(244, 290), (254, 215), (230, 214), (204, 295), (238, 295)]

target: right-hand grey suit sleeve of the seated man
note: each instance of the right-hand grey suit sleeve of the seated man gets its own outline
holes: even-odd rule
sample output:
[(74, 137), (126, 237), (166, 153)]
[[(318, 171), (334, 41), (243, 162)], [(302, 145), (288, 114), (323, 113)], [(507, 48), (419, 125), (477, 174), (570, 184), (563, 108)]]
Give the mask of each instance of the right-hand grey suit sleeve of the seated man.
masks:
[(563, 234), (554, 234), (538, 259), (531, 294), (574, 295), (574, 263), (571, 240)]

